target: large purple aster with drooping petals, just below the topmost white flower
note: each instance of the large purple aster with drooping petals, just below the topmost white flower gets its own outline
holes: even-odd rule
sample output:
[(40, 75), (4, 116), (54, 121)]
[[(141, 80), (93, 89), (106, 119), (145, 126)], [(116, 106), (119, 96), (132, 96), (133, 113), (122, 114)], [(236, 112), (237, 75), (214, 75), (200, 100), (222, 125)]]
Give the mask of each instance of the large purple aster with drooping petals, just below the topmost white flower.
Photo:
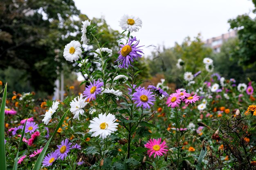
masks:
[(139, 53), (144, 54), (141, 50), (139, 49), (141, 46), (137, 45), (139, 44), (139, 41), (137, 41), (135, 44), (132, 44), (133, 42), (137, 41), (136, 37), (134, 38), (129, 38), (129, 41), (127, 44), (123, 45), (120, 44), (121, 48), (119, 50), (119, 56), (115, 62), (119, 61), (119, 66), (120, 68), (128, 68), (131, 65), (131, 62), (134, 62), (134, 60), (138, 60), (138, 57), (141, 58), (142, 55)]

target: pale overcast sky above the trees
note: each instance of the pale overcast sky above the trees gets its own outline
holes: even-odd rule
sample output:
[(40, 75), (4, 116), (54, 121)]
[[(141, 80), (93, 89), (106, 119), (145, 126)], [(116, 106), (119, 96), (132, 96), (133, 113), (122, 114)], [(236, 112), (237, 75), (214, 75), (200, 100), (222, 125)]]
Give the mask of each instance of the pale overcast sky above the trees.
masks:
[[(141, 18), (143, 24), (138, 32), (132, 32), (140, 44), (174, 46), (186, 36), (202, 34), (203, 40), (227, 33), (227, 20), (237, 15), (252, 13), (251, 0), (74, 0), (81, 13), (106, 19), (112, 29), (121, 31), (122, 15)], [(253, 15), (252, 15), (253, 16)], [(153, 49), (145, 49), (150, 55)]]

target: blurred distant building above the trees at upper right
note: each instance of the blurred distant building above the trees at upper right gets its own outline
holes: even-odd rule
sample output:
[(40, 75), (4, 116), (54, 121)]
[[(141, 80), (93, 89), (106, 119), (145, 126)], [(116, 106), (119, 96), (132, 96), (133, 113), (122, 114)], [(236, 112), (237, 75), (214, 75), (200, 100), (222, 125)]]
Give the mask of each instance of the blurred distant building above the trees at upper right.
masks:
[(219, 53), (221, 45), (225, 41), (227, 41), (229, 38), (236, 37), (236, 35), (237, 35), (237, 32), (235, 30), (234, 31), (230, 31), (229, 33), (222, 34), (222, 35), (220, 35), (218, 37), (210, 38), (210, 39), (204, 41), (204, 44), (206, 46), (210, 47), (211, 49), (213, 49), (213, 51), (215, 53)]

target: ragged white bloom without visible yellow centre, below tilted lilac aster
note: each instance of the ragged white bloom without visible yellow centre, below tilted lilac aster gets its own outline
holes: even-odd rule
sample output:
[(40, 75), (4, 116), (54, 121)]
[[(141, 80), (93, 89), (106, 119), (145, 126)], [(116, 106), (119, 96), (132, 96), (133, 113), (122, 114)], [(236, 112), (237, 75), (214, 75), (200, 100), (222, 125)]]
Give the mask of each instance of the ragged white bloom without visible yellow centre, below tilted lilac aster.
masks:
[(84, 113), (84, 110), (83, 108), (88, 104), (88, 102), (85, 102), (86, 101), (86, 98), (83, 99), (83, 94), (79, 96), (77, 96), (77, 99), (76, 97), (72, 100), (72, 102), (70, 102), (70, 111), (73, 113), (74, 117), (73, 119), (79, 119), (79, 115), (83, 115)]

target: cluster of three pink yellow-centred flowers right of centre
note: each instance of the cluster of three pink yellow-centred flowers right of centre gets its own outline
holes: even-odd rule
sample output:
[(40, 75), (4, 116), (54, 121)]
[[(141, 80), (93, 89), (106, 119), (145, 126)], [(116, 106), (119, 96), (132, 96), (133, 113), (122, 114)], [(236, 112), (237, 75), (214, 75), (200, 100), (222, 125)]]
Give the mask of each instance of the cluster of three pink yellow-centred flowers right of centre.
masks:
[(179, 106), (181, 102), (185, 102), (185, 104), (193, 104), (200, 99), (199, 96), (191, 95), (186, 93), (186, 90), (180, 91), (180, 89), (176, 90), (176, 93), (173, 93), (168, 97), (166, 104), (171, 106), (171, 108), (175, 108)]

